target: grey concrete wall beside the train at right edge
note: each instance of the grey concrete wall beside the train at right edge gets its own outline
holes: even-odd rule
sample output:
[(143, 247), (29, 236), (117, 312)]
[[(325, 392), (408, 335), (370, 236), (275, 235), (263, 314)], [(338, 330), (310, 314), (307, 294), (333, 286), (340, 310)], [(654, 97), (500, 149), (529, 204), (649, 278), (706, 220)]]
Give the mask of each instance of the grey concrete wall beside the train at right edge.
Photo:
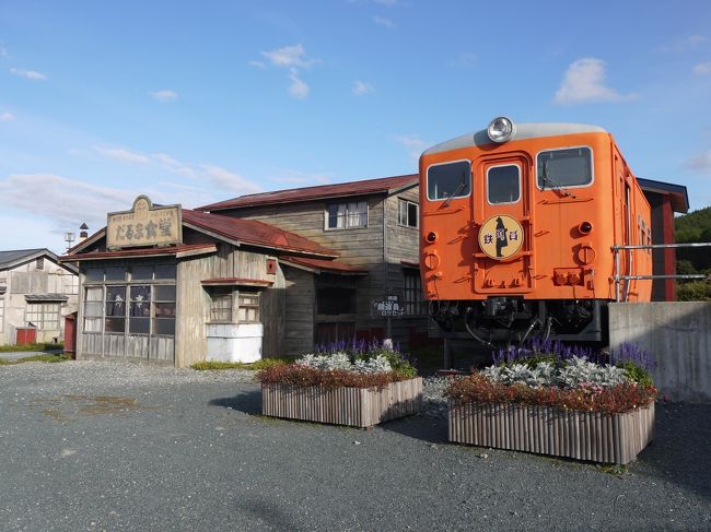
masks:
[(669, 401), (711, 403), (711, 303), (610, 304), (610, 348), (622, 342), (654, 355), (654, 383)]

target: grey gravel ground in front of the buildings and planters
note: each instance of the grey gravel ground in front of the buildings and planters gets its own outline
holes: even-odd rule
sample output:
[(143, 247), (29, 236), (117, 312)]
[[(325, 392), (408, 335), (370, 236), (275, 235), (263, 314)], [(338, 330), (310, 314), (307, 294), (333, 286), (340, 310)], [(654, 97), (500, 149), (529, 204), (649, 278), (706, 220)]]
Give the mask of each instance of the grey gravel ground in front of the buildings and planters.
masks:
[(0, 530), (711, 530), (711, 406), (660, 404), (626, 472), (259, 414), (249, 371), (0, 367)]

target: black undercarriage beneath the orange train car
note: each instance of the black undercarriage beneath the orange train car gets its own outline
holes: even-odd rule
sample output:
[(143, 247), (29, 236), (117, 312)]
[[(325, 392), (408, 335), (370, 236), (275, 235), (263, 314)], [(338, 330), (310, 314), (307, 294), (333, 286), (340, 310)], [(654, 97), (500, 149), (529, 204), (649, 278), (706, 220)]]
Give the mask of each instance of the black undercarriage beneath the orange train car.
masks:
[(564, 342), (607, 342), (607, 302), (524, 299), (431, 302), (443, 338), (471, 338), (485, 345), (523, 344), (534, 336)]

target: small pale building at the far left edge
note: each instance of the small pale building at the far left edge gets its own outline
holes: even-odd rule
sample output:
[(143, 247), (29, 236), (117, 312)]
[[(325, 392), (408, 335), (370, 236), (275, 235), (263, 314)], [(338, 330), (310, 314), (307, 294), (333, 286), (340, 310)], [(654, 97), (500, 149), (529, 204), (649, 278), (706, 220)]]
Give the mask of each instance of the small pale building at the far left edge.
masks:
[(78, 292), (77, 268), (48, 249), (0, 251), (0, 345), (59, 341)]

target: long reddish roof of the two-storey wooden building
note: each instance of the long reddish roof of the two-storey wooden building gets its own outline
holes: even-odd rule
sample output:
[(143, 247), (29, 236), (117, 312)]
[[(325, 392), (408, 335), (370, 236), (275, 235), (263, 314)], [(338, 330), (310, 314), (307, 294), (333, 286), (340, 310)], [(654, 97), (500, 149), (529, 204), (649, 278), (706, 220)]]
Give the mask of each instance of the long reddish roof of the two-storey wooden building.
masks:
[(275, 190), (272, 192), (240, 196), (231, 200), (198, 206), (196, 210), (214, 212), (225, 209), (241, 209), (245, 206), (267, 205), (275, 203), (296, 203), (300, 201), (322, 200), (327, 198), (387, 193), (392, 190), (416, 185), (417, 181), (417, 174), (408, 174), (406, 176), (381, 177), (378, 179), (339, 182), (336, 185), (320, 185), (317, 187)]

